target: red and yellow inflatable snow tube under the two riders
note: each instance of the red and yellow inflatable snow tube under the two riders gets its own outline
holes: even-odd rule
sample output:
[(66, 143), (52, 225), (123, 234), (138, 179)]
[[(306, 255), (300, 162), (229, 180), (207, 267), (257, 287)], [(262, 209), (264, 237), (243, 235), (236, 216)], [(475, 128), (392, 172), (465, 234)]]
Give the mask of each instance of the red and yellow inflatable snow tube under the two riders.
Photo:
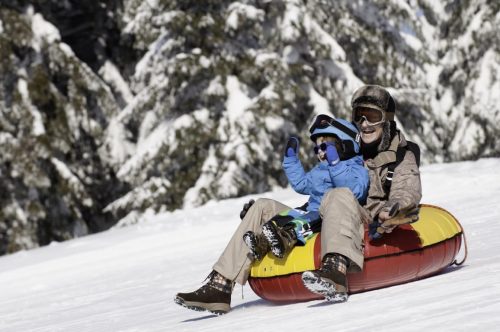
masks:
[[(370, 241), (365, 232), (363, 272), (349, 273), (349, 293), (393, 286), (439, 273), (455, 262), (463, 229), (446, 210), (422, 204), (419, 220), (401, 225), (390, 234)], [(249, 284), (261, 298), (272, 302), (321, 299), (302, 284), (301, 274), (319, 268), (320, 234), (303, 247), (295, 247), (283, 259), (268, 254), (255, 262)]]

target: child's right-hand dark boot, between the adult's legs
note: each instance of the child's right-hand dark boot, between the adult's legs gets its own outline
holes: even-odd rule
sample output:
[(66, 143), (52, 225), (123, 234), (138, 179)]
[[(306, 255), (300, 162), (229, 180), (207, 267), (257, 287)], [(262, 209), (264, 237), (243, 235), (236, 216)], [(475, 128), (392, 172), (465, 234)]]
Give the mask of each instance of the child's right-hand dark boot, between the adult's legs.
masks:
[(293, 226), (279, 227), (272, 220), (262, 225), (262, 234), (271, 246), (271, 252), (278, 258), (285, 257), (297, 243)]

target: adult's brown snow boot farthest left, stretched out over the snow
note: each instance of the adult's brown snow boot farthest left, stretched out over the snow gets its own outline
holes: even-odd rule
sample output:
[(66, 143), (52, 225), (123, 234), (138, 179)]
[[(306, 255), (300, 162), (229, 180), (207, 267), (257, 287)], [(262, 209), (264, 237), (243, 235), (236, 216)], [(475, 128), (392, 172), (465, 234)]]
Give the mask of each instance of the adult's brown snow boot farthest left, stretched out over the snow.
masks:
[(191, 293), (178, 293), (174, 302), (196, 311), (209, 311), (223, 315), (231, 310), (231, 293), (234, 283), (217, 271), (212, 271), (208, 282)]

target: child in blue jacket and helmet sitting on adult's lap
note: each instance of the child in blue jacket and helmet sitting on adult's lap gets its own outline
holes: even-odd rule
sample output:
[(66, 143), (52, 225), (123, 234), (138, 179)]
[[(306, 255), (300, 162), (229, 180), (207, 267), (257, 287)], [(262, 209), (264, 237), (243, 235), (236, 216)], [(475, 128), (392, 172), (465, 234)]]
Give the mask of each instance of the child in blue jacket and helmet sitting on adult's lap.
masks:
[(298, 158), (299, 140), (288, 140), (283, 169), (292, 188), (309, 195), (300, 209), (282, 211), (262, 225), (262, 233), (248, 231), (243, 240), (255, 260), (271, 251), (283, 258), (295, 245), (304, 245), (313, 233), (321, 229), (319, 206), (323, 195), (332, 188), (347, 187), (360, 203), (368, 192), (368, 172), (359, 150), (359, 132), (352, 123), (318, 115), (311, 125), (310, 138), (319, 163), (305, 172)]

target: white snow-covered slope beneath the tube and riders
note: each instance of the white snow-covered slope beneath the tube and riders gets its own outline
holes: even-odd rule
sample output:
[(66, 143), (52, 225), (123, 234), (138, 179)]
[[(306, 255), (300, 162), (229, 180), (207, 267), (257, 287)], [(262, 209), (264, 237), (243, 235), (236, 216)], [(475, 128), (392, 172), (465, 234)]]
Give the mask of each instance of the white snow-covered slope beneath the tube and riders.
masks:
[[(247, 285), (217, 317), (173, 302), (197, 288), (248, 197), (152, 215), (127, 228), (0, 258), (0, 331), (483, 331), (500, 326), (500, 159), (422, 167), (423, 202), (466, 230), (463, 267), (356, 294), (347, 303), (275, 305)], [(266, 197), (299, 205), (290, 189)], [(463, 252), (461, 252), (463, 254)]]

